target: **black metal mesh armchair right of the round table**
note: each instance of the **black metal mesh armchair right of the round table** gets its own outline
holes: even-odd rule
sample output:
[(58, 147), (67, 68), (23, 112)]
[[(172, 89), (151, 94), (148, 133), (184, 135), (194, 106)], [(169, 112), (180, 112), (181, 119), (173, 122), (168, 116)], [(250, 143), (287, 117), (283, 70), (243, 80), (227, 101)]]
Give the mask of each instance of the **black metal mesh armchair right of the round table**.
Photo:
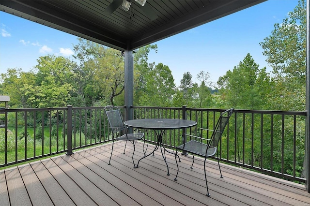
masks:
[[(202, 137), (198, 137), (198, 136), (194, 136), (194, 135), (190, 135), (190, 134), (184, 134), (183, 135), (183, 142), (186, 142), (185, 141), (186, 136), (194, 137), (194, 139), (192, 139), (189, 142), (186, 142), (185, 144), (176, 148), (175, 162), (176, 162), (176, 165), (178, 167), (178, 171), (177, 171), (177, 174), (176, 174), (174, 180), (177, 180), (178, 173), (179, 173), (179, 165), (178, 165), (178, 161), (176, 159), (179, 150), (183, 150), (184, 152), (188, 152), (188, 153), (193, 154), (193, 163), (192, 163), (192, 166), (190, 168), (193, 168), (193, 164), (195, 161), (194, 155), (204, 157), (204, 164), (203, 164), (203, 166), (204, 166), (204, 177), (205, 177), (205, 182), (206, 182), (206, 186), (207, 186), (207, 196), (210, 196), (209, 189), (208, 189), (207, 175), (206, 175), (206, 171), (205, 171), (205, 162), (206, 162), (208, 157), (214, 157), (214, 155), (217, 153), (218, 142), (219, 142), (219, 140), (220, 140), (220, 138), (224, 132), (224, 129), (225, 129), (225, 127), (229, 121), (229, 118), (233, 114), (233, 110), (234, 110), (234, 108), (228, 109), (220, 115), (220, 117), (217, 121), (217, 125), (215, 126), (214, 130), (209, 130), (209, 131), (213, 131), (210, 139), (206, 139), (206, 138), (202, 138)], [(203, 128), (201, 128), (201, 129), (202, 129), (202, 131), (208, 130), (208, 129), (203, 129)], [(199, 139), (200, 141), (197, 141), (196, 139)], [(179, 162), (181, 162), (181, 161), (179, 161)], [(219, 166), (218, 155), (217, 155), (217, 162), (218, 162), (219, 172), (221, 175), (220, 177), (223, 178), (221, 168)]]

